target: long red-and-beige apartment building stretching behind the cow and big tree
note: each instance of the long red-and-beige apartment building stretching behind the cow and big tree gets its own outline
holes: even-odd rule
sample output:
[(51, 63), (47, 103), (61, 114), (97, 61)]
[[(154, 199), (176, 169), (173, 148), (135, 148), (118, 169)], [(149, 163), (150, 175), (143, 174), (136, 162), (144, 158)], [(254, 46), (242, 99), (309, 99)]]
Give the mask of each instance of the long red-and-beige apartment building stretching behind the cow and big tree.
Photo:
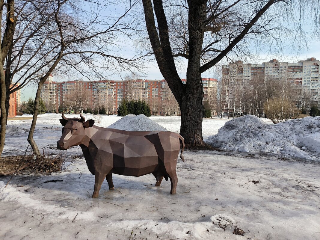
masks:
[[(185, 84), (186, 79), (181, 79)], [(210, 91), (216, 91), (217, 79), (203, 78), (204, 100), (208, 98)], [(87, 92), (89, 97), (88, 107), (94, 108), (97, 105), (105, 106), (112, 109), (111, 113), (116, 113), (119, 105), (124, 99), (128, 100), (144, 100), (151, 104), (158, 104), (165, 99), (175, 102), (175, 106), (171, 110), (174, 115), (179, 115), (179, 106), (173, 97), (172, 92), (168, 88), (166, 81), (163, 80), (147, 80), (134, 79), (128, 81), (122, 80), (104, 80), (104, 81), (66, 81), (55, 82), (52, 76), (45, 82), (41, 90), (41, 98), (44, 103), (49, 106), (53, 105), (56, 109), (59, 106), (66, 107), (68, 96), (79, 91)], [(172, 103), (171, 103), (172, 104)], [(158, 104), (158, 106), (160, 106)], [(168, 110), (157, 107), (158, 114), (164, 114)]]

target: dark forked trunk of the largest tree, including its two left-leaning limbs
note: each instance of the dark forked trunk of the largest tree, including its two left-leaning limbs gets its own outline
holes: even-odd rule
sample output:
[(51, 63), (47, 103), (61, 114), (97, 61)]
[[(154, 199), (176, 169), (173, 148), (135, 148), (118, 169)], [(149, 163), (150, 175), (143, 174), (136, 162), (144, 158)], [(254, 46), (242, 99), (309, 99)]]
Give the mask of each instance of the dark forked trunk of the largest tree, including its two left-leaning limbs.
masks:
[(159, 69), (180, 106), (180, 134), (186, 143), (203, 145), (203, 90), (199, 63), (204, 36), (206, 1), (188, 1), (189, 54), (186, 84), (182, 84), (173, 60), (162, 1), (153, 0), (158, 28), (155, 25), (151, 0), (142, 0), (142, 3), (150, 43)]

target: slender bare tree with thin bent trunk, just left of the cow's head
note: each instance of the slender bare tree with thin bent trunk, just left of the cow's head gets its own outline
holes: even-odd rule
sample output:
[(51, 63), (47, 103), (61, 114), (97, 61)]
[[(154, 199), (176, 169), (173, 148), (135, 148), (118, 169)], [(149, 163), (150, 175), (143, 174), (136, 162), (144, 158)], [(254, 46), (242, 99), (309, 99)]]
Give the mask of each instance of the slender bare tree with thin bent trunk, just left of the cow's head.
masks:
[[(130, 36), (132, 27), (125, 20), (125, 16), (131, 11), (132, 5), (124, 10), (123, 15), (117, 18), (114, 16), (105, 17), (101, 21), (101, 5), (98, 2), (86, 2), (86, 4), (93, 4), (93, 7), (84, 10), (78, 7), (81, 6), (80, 2), (75, 1), (50, 0), (44, 3), (48, 4), (46, 7), (53, 16), (51, 25), (46, 25), (46, 27), (55, 31), (55, 34), (47, 36), (54, 42), (55, 48), (51, 55), (46, 56), (48, 68), (38, 82), (35, 111), (28, 135), (28, 142), (38, 158), (41, 155), (33, 140), (33, 133), (36, 126), (40, 91), (48, 76), (58, 65), (62, 69), (63, 66), (75, 69), (83, 75), (88, 72), (87, 69), (90, 67), (93, 73), (97, 74), (96, 76), (101, 76), (99, 66), (101, 69), (106, 64), (108, 64), (108, 70), (116, 67), (126, 69), (137, 67), (137, 63), (134, 62), (136, 59), (125, 59), (116, 53), (119, 49), (116, 45), (119, 38), (124, 35)], [(104, 29), (101, 30), (101, 27)], [(61, 69), (59, 68), (59, 70)]]

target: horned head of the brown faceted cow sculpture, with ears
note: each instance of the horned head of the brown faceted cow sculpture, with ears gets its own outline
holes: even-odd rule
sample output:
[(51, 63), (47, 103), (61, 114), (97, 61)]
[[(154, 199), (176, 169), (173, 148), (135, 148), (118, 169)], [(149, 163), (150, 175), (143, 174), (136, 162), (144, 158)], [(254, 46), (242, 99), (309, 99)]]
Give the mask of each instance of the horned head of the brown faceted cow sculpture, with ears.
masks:
[(86, 136), (85, 128), (92, 127), (94, 120), (89, 119), (84, 121), (85, 118), (80, 113), (80, 118), (66, 118), (62, 114), (60, 123), (62, 124), (62, 136), (57, 141), (57, 148), (60, 150), (67, 150), (70, 147), (78, 146), (83, 143)]

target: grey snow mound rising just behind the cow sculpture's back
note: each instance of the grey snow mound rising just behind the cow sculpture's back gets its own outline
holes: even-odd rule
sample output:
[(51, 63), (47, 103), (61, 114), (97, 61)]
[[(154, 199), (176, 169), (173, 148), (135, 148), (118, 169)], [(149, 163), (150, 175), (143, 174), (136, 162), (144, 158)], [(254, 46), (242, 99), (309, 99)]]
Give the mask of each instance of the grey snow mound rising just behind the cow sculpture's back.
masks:
[(124, 116), (108, 126), (108, 128), (126, 131), (167, 131), (163, 126), (157, 124), (143, 114), (138, 116), (134, 114)]

